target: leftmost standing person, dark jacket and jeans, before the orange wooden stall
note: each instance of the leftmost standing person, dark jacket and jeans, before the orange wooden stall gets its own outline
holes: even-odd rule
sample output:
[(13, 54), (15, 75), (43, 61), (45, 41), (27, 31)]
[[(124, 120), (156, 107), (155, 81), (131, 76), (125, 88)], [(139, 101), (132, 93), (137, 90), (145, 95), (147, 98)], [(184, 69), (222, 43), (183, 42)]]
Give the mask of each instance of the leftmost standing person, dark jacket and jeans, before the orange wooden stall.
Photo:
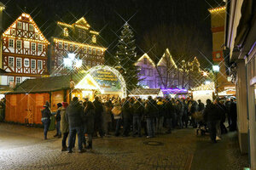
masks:
[(43, 107), (44, 107), (44, 109), (41, 110), (41, 113), (42, 113), (41, 121), (44, 124), (44, 139), (48, 139), (47, 138), (47, 133), (48, 133), (48, 130), (49, 130), (50, 116), (52, 116), (52, 114), (51, 114), (51, 111), (49, 109), (50, 106), (49, 106), (48, 101), (46, 101), (46, 103)]

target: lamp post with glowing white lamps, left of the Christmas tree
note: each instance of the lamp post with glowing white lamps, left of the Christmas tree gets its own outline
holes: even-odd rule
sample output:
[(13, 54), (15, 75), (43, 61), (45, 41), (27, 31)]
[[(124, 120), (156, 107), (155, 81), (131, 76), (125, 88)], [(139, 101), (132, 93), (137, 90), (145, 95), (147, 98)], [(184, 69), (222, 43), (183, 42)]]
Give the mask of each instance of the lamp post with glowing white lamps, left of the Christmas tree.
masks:
[[(71, 77), (70, 77), (70, 94), (72, 92), (72, 89), (74, 88), (74, 82), (73, 82), (73, 70), (79, 69), (83, 61), (82, 59), (76, 58), (76, 54), (67, 54), (67, 58), (63, 59), (64, 66), (70, 70)], [(71, 100), (71, 95), (69, 95), (69, 101)]]

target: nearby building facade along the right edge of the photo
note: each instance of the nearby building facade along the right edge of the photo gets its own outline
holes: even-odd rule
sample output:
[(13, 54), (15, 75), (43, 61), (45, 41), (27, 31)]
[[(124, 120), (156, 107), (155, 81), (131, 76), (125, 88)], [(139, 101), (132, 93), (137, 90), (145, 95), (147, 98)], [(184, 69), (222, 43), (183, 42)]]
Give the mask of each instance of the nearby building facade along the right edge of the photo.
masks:
[(250, 169), (256, 170), (256, 2), (228, 1), (226, 12), (224, 53), (236, 84), (239, 144), (241, 152), (249, 153)]

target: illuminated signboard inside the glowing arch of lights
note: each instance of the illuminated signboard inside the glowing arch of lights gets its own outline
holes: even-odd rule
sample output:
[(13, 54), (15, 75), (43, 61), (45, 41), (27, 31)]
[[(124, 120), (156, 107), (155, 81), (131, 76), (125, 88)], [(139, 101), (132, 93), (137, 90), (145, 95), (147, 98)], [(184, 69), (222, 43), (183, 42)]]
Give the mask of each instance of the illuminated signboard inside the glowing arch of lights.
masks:
[(120, 80), (112, 71), (100, 69), (90, 72), (90, 75), (100, 88), (106, 92), (116, 92), (121, 90)]

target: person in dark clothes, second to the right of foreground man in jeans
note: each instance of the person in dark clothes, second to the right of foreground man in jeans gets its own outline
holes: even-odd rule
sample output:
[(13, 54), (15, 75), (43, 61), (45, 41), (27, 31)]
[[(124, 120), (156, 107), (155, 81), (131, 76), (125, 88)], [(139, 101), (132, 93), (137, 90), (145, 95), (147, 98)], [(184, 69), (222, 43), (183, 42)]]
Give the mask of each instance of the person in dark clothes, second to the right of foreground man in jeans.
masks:
[(103, 105), (100, 102), (99, 97), (96, 96), (95, 100), (93, 101), (93, 105), (95, 106), (95, 123), (94, 123), (95, 133), (99, 133), (99, 135), (103, 137), (104, 135), (104, 132), (102, 130)]

